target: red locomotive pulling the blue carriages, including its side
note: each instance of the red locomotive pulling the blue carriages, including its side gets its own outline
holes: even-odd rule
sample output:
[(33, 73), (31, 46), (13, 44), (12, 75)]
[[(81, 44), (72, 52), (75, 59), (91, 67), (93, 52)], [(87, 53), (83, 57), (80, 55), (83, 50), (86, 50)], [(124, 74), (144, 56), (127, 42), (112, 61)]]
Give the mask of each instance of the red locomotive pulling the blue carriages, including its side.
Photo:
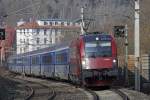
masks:
[(84, 86), (109, 86), (117, 77), (114, 38), (93, 32), (72, 41), (69, 52), (71, 81)]

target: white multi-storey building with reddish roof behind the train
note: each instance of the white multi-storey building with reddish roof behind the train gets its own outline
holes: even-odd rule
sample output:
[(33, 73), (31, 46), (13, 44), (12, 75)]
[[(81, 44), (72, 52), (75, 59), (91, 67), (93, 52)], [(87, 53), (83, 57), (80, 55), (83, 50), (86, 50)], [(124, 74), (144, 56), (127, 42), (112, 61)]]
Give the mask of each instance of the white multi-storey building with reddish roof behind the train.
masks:
[(62, 19), (21, 20), (16, 27), (17, 54), (59, 43), (66, 32), (79, 33), (80, 24)]

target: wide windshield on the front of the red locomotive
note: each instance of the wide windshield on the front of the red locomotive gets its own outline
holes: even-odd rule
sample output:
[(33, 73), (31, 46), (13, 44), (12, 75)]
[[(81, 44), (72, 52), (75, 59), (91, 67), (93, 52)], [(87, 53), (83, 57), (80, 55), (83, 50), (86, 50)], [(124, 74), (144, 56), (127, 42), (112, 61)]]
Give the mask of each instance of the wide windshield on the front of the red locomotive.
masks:
[(86, 57), (111, 57), (111, 41), (90, 41), (85, 43)]

